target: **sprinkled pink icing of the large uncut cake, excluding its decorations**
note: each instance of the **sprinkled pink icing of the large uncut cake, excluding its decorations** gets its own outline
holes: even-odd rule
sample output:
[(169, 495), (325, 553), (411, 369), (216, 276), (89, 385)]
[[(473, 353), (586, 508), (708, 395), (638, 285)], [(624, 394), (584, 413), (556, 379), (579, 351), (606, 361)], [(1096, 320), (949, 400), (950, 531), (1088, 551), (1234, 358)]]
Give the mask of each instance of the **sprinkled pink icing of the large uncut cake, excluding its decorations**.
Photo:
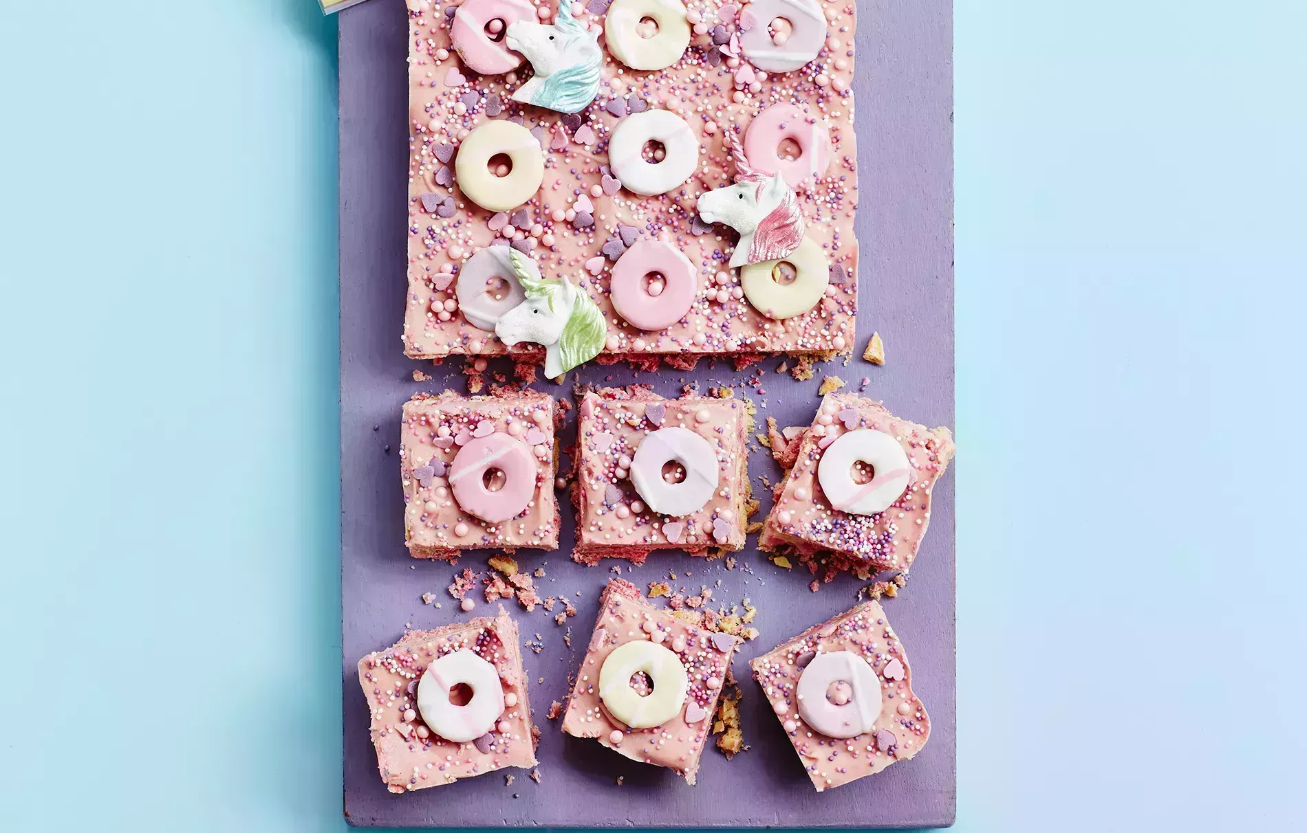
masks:
[[(720, 0), (694, 4), (703, 20), (716, 20)], [(852, 127), (855, 4), (822, 3), (829, 18), (826, 46), (817, 59), (789, 73), (755, 72), (741, 60), (732, 42), (714, 44), (712, 31), (695, 34), (681, 60), (667, 69), (631, 72), (604, 56), (600, 94), (583, 115), (583, 124), (510, 101), (521, 73), (472, 80), (450, 47), (447, 5), (409, 0), (409, 195), (408, 277), (404, 350), (413, 358), (501, 355), (510, 353), (493, 333), (473, 326), (457, 308), (450, 269), (460, 266), (493, 240), (511, 240), (540, 261), (546, 278), (567, 274), (580, 283), (603, 311), (606, 341), (600, 360), (672, 359), (680, 364), (702, 355), (766, 353), (831, 355), (853, 346), (856, 313), (857, 206), (856, 137)], [(595, 26), (603, 16), (579, 20)], [(738, 35), (733, 16), (725, 16), (727, 35)], [(603, 42), (603, 38), (601, 38)], [(744, 298), (737, 269), (731, 269), (736, 235), (723, 226), (693, 234), (699, 195), (731, 184), (735, 165), (725, 145), (728, 133), (742, 136), (749, 123), (772, 104), (792, 102), (805, 116), (831, 125), (834, 162), (799, 195), (808, 236), (823, 247), (838, 274), (847, 275), (810, 312), (772, 321)], [(668, 195), (639, 197), (605, 178), (608, 137), (627, 108), (667, 108), (690, 125), (702, 151), (694, 175)], [(495, 112), (498, 115), (489, 115)], [(540, 128), (545, 155), (541, 189), (507, 223), (464, 198), (454, 181), (455, 148), (473, 127), (488, 119), (521, 119)], [(587, 144), (582, 144), (587, 142)], [(423, 202), (423, 196), (426, 201)], [(455, 204), (452, 215), (444, 200)], [(586, 210), (586, 204), (589, 210)], [(689, 312), (664, 330), (646, 332), (617, 315), (609, 298), (613, 257), (629, 257), (622, 244), (634, 231), (682, 251), (698, 275)], [(701, 228), (702, 230), (702, 228)], [(613, 243), (616, 240), (616, 244)], [(606, 249), (606, 251), (605, 251)], [(595, 272), (588, 270), (593, 264)], [(444, 277), (442, 277), (442, 274)], [(442, 289), (443, 286), (443, 289)], [(515, 355), (540, 356), (531, 345)]]

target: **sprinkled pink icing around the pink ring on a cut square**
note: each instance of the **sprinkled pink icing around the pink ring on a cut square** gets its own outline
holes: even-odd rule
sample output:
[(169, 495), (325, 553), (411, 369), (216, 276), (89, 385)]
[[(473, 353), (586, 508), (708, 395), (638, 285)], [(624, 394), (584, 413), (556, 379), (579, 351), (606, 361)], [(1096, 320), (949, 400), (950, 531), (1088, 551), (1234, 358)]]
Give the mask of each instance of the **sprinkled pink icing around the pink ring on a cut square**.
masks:
[[(420, 393), (405, 402), (400, 475), (409, 554), (452, 560), (459, 550), (468, 548), (555, 548), (559, 520), (554, 423), (559, 418), (554, 400), (533, 390), (471, 398), (446, 390), (438, 397)], [(502, 524), (482, 521), (459, 505), (447, 479), (459, 450), (477, 433), (488, 432), (503, 432), (524, 443), (531, 452), (525, 465), (535, 470), (525, 511)]]

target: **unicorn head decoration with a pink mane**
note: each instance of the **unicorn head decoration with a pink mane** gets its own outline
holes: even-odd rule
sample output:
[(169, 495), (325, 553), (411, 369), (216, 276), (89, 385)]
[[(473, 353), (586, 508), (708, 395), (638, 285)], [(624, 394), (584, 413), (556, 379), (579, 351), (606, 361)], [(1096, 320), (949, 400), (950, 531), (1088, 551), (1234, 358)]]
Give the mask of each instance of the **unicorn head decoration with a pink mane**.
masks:
[(804, 240), (804, 214), (799, 197), (780, 174), (769, 176), (749, 165), (740, 140), (731, 137), (736, 184), (714, 188), (698, 201), (704, 222), (724, 223), (740, 232), (731, 266), (780, 260)]

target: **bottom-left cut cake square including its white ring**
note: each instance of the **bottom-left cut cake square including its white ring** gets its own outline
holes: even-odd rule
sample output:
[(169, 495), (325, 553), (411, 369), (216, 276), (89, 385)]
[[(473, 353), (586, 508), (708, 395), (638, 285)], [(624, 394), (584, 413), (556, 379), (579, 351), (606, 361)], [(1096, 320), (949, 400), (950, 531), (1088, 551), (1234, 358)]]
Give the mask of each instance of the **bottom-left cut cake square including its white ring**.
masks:
[(498, 616), (405, 633), (358, 661), (358, 684), (391, 793), (536, 765), (518, 625), (503, 607)]

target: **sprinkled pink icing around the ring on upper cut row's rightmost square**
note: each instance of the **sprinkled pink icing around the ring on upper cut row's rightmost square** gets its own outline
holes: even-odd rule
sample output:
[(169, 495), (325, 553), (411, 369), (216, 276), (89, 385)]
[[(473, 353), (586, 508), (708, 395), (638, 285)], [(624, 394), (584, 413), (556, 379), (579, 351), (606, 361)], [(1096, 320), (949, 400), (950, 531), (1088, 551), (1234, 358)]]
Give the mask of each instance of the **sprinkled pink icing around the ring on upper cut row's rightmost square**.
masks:
[[(846, 422), (847, 420), (847, 422)], [(822, 452), (852, 427), (885, 431), (907, 453), (910, 486), (889, 509), (850, 514), (833, 509), (821, 491), (817, 464)], [(776, 501), (758, 537), (761, 550), (793, 548), (801, 556), (822, 554), (827, 567), (906, 571), (912, 565), (931, 522), (931, 491), (953, 460), (948, 428), (925, 428), (899, 419), (880, 402), (852, 393), (830, 393), (813, 424), (792, 440), (795, 466), (778, 486)]]

